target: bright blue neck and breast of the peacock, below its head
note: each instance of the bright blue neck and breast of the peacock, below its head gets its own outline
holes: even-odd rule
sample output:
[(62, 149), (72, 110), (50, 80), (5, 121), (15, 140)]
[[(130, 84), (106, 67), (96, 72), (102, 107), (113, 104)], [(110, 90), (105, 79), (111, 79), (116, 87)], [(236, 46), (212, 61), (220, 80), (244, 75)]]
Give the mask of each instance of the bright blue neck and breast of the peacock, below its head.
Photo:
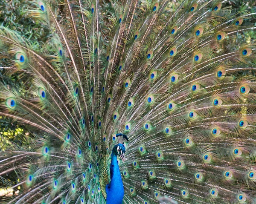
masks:
[(110, 164), (110, 183), (106, 186), (107, 204), (122, 204), (124, 187), (122, 177), (117, 164), (117, 155), (112, 150)]

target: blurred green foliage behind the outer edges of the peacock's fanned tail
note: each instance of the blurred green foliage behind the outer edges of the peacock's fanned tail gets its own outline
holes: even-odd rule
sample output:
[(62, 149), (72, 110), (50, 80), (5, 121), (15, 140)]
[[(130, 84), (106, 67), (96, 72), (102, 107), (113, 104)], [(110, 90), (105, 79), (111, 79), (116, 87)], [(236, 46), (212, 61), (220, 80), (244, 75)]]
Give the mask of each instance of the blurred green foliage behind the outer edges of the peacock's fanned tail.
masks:
[[(102, 13), (109, 14), (111, 11), (111, 3), (109, 0), (100, 0), (102, 5)], [(256, 12), (256, 1), (255, 0), (240, 0), (233, 1), (230, 0), (230, 3), (233, 4), (234, 13), (239, 13), (244, 10), (248, 10), (251, 13)], [(170, 7), (175, 9), (177, 6), (177, 1), (172, 0)], [(27, 16), (26, 9), (29, 9), (31, 6), (31, 0), (0, 0), (0, 25), (6, 26), (9, 29), (20, 32), (23, 36), (31, 40), (32, 43), (37, 44), (38, 42), (45, 42), (47, 39), (47, 31), (41, 26), (41, 24), (35, 23), (31, 18)], [(61, 8), (60, 8), (61, 9)], [(107, 19), (105, 19), (107, 20)], [(254, 25), (256, 25), (256, 15), (254, 18), (250, 19)], [(256, 32), (248, 31), (244, 32), (244, 35), (240, 35), (241, 40), (255, 40)], [(19, 75), (4, 75), (6, 69), (1, 67), (8, 66), (5, 64), (5, 61), (0, 59), (0, 80), (6, 86), (19, 86), (20, 83), (23, 83), (23, 78), (20, 78)], [(15, 83), (14, 83), (15, 82)], [(26, 129), (26, 126), (18, 125), (16, 122), (13, 122), (9, 118), (0, 116), (0, 152), (4, 151), (6, 147), (17, 144), (22, 146), (26, 144), (29, 140), (33, 139), (33, 134), (30, 134), (29, 129)], [(0, 196), (1, 188), (2, 195), (6, 193), (12, 193), (12, 190), (4, 191), (6, 187), (6, 181), (10, 183), (17, 183), (17, 176), (6, 175), (5, 178), (0, 177)]]

